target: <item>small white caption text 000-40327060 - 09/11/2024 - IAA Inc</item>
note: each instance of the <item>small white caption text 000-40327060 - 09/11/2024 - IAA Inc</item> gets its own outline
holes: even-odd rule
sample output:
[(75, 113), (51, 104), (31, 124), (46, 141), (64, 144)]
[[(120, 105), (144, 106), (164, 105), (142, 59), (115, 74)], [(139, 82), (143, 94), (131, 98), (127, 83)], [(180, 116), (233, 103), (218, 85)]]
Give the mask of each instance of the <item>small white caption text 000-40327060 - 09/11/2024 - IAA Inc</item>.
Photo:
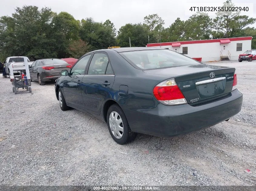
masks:
[(94, 186), (94, 190), (160, 190), (157, 186)]

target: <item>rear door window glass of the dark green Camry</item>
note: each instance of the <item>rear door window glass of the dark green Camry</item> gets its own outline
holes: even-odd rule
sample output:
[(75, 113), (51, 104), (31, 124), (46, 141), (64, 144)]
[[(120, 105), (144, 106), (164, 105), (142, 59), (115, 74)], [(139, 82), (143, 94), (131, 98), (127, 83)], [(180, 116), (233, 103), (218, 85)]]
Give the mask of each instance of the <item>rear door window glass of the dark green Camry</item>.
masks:
[(104, 53), (95, 53), (91, 59), (88, 75), (105, 75), (108, 65), (108, 56)]

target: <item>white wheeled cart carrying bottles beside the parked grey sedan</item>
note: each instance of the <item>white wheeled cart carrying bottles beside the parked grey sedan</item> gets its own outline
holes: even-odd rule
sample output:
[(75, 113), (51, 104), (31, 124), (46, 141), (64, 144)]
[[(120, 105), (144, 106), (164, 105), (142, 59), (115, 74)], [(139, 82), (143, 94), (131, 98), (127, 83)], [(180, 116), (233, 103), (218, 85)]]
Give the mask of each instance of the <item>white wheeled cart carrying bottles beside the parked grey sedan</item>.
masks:
[(12, 92), (14, 92), (14, 94), (17, 94), (19, 88), (26, 89), (30, 93), (32, 92), (30, 74), (29, 74), (29, 69), (28, 69), (28, 58), (25, 56), (23, 58), (24, 58), (24, 63), (25, 63), (25, 71), (24, 70), (17, 71), (20, 74), (20, 79), (17, 77), (15, 78), (15, 76), (13, 74), (13, 68), (14, 68), (13, 64), (15, 62), (12, 62), (8, 66), (9, 71), (10, 71), (9, 76), (11, 78), (10, 81), (12, 82)]

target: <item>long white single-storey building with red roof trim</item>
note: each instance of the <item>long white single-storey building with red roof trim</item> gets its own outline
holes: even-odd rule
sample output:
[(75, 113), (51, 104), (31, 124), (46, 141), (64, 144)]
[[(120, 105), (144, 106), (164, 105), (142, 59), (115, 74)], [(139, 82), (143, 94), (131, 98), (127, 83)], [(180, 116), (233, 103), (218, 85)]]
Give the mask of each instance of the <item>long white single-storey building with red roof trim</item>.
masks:
[(251, 49), (252, 37), (211, 40), (191, 40), (169, 43), (150, 43), (147, 47), (161, 47), (183, 53), (199, 61), (238, 60), (239, 54)]

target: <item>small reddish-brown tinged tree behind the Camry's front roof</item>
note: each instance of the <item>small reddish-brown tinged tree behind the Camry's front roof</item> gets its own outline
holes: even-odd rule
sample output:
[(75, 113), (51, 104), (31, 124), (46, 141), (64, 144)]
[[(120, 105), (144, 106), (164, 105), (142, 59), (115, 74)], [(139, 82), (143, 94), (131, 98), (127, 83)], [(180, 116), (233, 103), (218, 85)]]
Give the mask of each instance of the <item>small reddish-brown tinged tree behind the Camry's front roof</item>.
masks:
[(74, 40), (69, 45), (69, 54), (76, 59), (79, 59), (81, 56), (88, 53), (90, 50), (91, 50), (91, 46), (81, 39)]

